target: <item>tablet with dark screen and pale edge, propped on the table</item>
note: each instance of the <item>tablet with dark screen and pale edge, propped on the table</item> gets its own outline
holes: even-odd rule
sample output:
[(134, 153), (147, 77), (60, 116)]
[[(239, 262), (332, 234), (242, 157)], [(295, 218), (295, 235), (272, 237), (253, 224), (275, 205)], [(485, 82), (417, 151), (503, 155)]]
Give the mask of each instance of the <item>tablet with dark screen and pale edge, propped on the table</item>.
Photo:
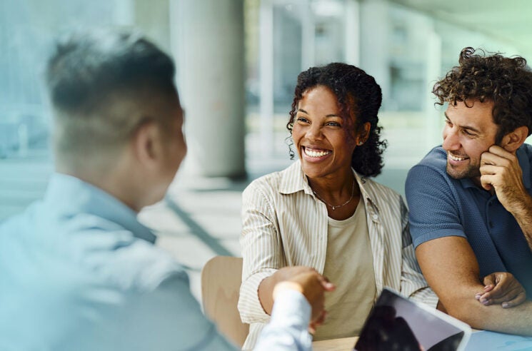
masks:
[(470, 336), (466, 323), (385, 288), (353, 350), (460, 351)]

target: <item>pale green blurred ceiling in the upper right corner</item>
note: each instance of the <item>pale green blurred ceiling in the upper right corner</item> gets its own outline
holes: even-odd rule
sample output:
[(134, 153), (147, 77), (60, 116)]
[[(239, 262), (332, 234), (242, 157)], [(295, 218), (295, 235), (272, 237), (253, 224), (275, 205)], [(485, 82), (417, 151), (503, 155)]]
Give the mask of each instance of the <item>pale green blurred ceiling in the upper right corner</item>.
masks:
[[(370, 0), (371, 1), (371, 0)], [(530, 0), (391, 0), (436, 19), (478, 31), (532, 53)]]

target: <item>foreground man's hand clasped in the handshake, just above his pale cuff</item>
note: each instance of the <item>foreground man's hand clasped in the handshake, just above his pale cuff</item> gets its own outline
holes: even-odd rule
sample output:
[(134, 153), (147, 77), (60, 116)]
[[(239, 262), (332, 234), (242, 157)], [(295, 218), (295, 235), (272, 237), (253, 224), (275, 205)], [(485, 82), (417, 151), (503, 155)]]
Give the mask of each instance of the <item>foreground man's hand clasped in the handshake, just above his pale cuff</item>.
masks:
[(282, 290), (291, 289), (301, 292), (311, 305), (312, 315), (309, 329), (315, 332), (316, 327), (321, 325), (326, 317), (324, 292), (332, 291), (336, 287), (313, 268), (286, 267), (279, 272), (284, 279), (273, 289), (273, 300)]

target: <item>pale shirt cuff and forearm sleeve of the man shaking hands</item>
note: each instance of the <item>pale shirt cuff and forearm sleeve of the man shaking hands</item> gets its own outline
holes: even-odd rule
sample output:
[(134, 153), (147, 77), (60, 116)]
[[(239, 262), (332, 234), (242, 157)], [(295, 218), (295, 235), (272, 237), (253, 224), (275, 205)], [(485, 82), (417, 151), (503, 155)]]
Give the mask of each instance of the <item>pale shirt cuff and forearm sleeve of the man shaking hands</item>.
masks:
[(255, 351), (310, 351), (312, 337), (308, 333), (311, 306), (295, 290), (285, 290), (273, 304), (271, 321), (261, 333)]

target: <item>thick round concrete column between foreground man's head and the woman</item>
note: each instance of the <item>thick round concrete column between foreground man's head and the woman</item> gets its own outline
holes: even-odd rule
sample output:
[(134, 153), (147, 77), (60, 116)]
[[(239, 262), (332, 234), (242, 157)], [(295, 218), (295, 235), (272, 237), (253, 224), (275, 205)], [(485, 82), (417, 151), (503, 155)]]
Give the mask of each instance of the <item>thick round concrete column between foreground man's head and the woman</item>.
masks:
[(189, 145), (184, 168), (244, 175), (244, 2), (172, 0), (170, 26)]

